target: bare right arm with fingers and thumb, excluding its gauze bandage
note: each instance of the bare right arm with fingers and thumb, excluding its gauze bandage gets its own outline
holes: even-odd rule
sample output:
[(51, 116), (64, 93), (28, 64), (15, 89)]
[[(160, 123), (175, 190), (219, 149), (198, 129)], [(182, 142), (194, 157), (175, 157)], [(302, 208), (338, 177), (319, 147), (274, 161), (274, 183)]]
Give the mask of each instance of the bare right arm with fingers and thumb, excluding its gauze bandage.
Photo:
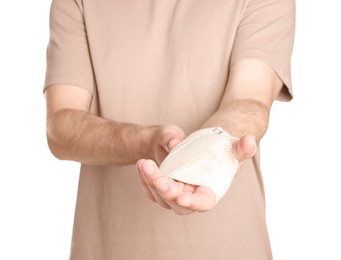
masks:
[[(231, 67), (221, 104), (203, 125), (220, 126), (240, 137), (233, 151), (239, 162), (251, 158), (268, 127), (270, 109), (283, 83), (267, 64), (242, 60)], [(215, 195), (206, 187), (184, 184), (162, 176), (150, 160), (137, 163), (140, 182), (147, 196), (177, 214), (207, 211), (215, 206)]]

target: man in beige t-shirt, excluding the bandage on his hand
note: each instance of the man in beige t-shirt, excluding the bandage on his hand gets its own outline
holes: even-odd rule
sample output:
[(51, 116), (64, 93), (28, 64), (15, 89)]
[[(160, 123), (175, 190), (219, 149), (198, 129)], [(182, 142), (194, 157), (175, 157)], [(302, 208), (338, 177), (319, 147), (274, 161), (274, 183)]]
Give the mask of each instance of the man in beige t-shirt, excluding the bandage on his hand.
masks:
[[(291, 98), (294, 12), (293, 0), (52, 2), (47, 138), (82, 163), (71, 259), (272, 258), (257, 144), (272, 102)], [(241, 165), (218, 204), (158, 168), (217, 126), (240, 138)]]

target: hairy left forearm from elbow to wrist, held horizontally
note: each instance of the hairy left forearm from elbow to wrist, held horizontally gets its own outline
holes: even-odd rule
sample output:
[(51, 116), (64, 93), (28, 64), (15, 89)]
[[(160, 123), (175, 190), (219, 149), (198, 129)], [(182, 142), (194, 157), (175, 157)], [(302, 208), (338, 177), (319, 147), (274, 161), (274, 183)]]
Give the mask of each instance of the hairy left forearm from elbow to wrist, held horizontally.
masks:
[(62, 109), (47, 118), (52, 153), (59, 159), (85, 164), (123, 165), (150, 157), (149, 143), (154, 129), (74, 109)]

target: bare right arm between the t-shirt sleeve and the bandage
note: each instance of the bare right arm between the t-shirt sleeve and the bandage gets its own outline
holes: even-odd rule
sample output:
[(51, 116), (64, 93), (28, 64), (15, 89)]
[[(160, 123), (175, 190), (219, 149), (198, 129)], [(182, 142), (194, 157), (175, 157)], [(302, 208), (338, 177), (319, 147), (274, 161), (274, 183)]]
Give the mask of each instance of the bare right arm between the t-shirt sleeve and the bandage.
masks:
[(221, 126), (232, 136), (252, 135), (258, 143), (269, 123), (270, 109), (283, 83), (267, 64), (243, 60), (234, 64), (224, 97), (203, 127)]

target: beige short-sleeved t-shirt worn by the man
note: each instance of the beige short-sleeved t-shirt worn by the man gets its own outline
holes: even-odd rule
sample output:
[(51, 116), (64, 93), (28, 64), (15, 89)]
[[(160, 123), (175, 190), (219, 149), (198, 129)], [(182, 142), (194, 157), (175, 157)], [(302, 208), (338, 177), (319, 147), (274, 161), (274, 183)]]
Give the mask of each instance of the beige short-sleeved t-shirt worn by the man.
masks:
[[(191, 133), (217, 109), (231, 64), (269, 64), (291, 98), (294, 0), (54, 0), (45, 87), (93, 94), (91, 112)], [(258, 155), (219, 204), (178, 216), (134, 165), (82, 165), (72, 260), (271, 259)]]

